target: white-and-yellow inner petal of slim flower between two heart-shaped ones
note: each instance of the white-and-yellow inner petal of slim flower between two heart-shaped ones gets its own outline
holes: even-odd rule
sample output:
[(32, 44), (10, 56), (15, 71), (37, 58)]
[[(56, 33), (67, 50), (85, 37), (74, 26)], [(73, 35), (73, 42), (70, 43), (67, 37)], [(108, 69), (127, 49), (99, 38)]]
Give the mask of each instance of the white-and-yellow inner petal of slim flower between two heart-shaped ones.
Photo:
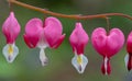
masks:
[[(78, 61), (78, 57), (80, 58), (79, 61)], [(72, 59), (72, 65), (76, 68), (76, 70), (79, 73), (84, 73), (87, 63), (88, 63), (88, 59), (84, 55), (75, 54), (75, 57)]]

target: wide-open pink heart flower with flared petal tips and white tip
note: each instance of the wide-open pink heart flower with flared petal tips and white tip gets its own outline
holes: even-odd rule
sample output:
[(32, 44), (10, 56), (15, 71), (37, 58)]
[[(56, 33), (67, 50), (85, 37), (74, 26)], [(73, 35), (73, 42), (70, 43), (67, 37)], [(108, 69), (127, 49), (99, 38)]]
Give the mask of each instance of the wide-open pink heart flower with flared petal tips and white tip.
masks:
[(62, 23), (53, 16), (45, 19), (44, 23), (40, 19), (32, 19), (25, 25), (24, 42), (30, 48), (38, 47), (42, 66), (47, 65), (47, 57), (44, 49), (46, 47), (57, 48), (65, 38), (62, 35)]

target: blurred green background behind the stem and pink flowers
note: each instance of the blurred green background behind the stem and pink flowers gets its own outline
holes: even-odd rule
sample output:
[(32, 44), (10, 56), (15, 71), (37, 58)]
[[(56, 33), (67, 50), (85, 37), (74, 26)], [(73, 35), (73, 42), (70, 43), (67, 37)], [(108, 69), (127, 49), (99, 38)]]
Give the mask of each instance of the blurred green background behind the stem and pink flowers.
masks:
[[(132, 0), (20, 0), (22, 2), (45, 8), (65, 14), (99, 14), (121, 12), (132, 15)], [(57, 49), (46, 49), (50, 63), (42, 67), (38, 59), (38, 49), (30, 49), (24, 40), (24, 25), (32, 18), (44, 20), (44, 14), (19, 5), (13, 5), (13, 11), (21, 24), (21, 34), (16, 39), (20, 54), (13, 63), (8, 63), (2, 55), (6, 38), (0, 31), (0, 81), (132, 81), (132, 71), (128, 72), (124, 66), (125, 45), (118, 55), (111, 58), (110, 76), (100, 71), (102, 57), (95, 51), (89, 40), (85, 55), (89, 63), (82, 74), (78, 74), (72, 66), (74, 57), (68, 37), (75, 27), (76, 20), (61, 19), (66, 38)], [(0, 25), (9, 15), (7, 0), (0, 0)], [(80, 21), (89, 37), (94, 28), (107, 27), (105, 19)], [(110, 16), (110, 28), (120, 27), (125, 37), (132, 30), (132, 21), (120, 16)]]

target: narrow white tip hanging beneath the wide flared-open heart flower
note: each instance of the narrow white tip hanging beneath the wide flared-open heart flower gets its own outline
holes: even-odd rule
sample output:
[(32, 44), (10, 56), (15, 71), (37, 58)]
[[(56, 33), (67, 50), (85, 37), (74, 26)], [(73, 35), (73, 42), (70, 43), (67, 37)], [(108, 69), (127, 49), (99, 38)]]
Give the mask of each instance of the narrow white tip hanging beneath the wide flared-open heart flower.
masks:
[(42, 62), (42, 66), (46, 66), (48, 63), (48, 59), (45, 56), (45, 53), (44, 53), (43, 48), (41, 48), (41, 50), (40, 50), (40, 60)]

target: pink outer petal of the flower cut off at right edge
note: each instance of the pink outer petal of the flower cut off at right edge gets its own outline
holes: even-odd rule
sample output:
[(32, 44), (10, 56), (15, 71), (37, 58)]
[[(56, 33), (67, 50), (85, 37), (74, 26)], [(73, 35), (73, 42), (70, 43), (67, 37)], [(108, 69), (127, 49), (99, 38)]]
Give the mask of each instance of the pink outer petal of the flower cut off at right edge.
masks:
[(132, 32), (129, 34), (127, 39), (127, 51), (132, 55)]

